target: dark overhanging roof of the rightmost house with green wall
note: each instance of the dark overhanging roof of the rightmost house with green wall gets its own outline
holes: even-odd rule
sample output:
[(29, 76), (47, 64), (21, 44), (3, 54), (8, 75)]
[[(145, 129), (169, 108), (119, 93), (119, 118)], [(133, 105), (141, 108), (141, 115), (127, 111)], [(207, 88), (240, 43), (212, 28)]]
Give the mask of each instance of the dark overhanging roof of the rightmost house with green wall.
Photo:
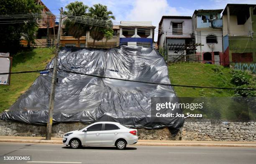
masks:
[(227, 6), (229, 7), (230, 15), (237, 15), (238, 13), (248, 10), (249, 7), (256, 6), (256, 4), (227, 4), (223, 10), (223, 15), (227, 14)]

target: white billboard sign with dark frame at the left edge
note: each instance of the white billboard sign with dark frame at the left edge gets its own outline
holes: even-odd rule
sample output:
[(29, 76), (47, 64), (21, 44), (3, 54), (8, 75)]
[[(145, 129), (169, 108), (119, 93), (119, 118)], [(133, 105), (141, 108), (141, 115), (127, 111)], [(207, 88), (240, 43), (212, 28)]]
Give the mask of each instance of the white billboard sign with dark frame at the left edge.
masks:
[[(0, 53), (0, 73), (10, 73), (12, 57), (9, 53)], [(10, 74), (0, 75), (0, 85), (10, 84)]]

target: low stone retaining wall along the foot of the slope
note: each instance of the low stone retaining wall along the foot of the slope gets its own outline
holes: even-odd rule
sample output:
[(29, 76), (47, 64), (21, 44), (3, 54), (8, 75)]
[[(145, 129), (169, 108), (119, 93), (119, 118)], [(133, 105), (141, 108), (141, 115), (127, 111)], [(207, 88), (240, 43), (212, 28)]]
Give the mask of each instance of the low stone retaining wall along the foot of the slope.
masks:
[[(66, 132), (82, 129), (85, 126), (86, 124), (79, 122), (56, 124), (53, 125), (52, 137), (62, 137)], [(45, 126), (0, 120), (0, 135), (38, 137), (45, 136), (45, 134)], [(172, 136), (168, 128), (138, 129), (138, 134), (140, 134), (139, 139), (256, 142), (256, 122), (186, 121), (176, 136)]]

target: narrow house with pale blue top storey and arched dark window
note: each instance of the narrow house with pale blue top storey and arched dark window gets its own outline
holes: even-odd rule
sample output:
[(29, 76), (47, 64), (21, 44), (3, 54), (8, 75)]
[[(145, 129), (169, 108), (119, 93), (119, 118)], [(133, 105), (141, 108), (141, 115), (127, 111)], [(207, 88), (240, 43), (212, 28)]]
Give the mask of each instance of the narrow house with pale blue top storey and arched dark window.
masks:
[[(223, 22), (220, 10), (195, 10), (192, 16), (192, 25), (195, 35), (195, 43), (202, 44), (202, 62), (211, 62), (220, 65), (223, 60)], [(196, 50), (198, 55), (200, 49)]]

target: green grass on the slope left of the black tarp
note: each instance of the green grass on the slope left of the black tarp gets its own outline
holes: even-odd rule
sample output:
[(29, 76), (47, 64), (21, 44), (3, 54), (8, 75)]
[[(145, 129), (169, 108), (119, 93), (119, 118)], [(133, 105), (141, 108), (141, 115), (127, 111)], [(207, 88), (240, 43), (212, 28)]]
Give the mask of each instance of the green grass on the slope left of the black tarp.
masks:
[[(37, 48), (24, 50), (13, 56), (12, 72), (43, 70), (52, 58), (51, 50)], [(0, 112), (8, 109), (26, 92), (38, 77), (38, 73), (12, 74), (10, 85), (0, 85)]]

